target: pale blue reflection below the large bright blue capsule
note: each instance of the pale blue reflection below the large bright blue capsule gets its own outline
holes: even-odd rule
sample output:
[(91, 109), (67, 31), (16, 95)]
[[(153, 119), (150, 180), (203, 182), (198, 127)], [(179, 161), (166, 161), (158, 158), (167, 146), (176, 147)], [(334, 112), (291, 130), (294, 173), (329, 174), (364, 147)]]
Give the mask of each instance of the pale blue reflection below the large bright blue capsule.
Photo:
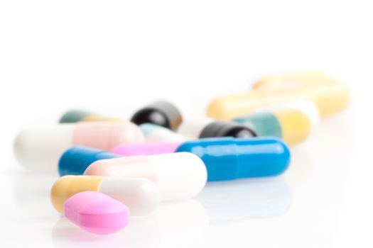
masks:
[(197, 196), (210, 225), (274, 218), (291, 208), (291, 188), (281, 177), (212, 182)]

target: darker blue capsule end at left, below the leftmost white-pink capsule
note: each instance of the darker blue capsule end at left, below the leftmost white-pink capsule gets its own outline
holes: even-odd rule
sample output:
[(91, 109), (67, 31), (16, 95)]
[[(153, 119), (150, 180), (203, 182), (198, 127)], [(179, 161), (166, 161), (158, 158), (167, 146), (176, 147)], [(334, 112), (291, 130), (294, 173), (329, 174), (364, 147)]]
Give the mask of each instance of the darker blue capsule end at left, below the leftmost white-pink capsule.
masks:
[(60, 176), (82, 175), (85, 169), (93, 162), (100, 159), (114, 159), (116, 157), (123, 156), (90, 147), (71, 147), (60, 157), (60, 161), (58, 162), (58, 174), (60, 174)]

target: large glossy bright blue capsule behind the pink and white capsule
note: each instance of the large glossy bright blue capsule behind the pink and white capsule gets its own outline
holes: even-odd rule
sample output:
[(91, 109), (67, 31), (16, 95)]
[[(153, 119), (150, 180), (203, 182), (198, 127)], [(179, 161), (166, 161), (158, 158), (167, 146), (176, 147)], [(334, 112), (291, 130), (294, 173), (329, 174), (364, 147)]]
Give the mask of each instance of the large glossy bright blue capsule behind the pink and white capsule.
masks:
[(207, 181), (277, 176), (286, 171), (291, 154), (279, 139), (252, 137), (205, 138), (185, 142), (175, 152), (198, 155), (207, 168)]

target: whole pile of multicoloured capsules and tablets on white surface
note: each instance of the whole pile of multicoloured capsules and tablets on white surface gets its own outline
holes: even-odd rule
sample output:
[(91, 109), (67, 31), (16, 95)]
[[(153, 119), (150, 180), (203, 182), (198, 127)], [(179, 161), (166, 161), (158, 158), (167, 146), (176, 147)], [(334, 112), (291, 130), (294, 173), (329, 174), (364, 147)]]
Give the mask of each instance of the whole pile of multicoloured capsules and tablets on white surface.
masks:
[(171, 101), (150, 103), (130, 121), (67, 111), (56, 125), (18, 133), (14, 152), (28, 169), (58, 171), (50, 191), (55, 210), (107, 235), (124, 228), (129, 215), (196, 196), (207, 181), (282, 174), (288, 145), (306, 140), (320, 116), (348, 102), (348, 89), (325, 74), (283, 74), (215, 98), (206, 117)]

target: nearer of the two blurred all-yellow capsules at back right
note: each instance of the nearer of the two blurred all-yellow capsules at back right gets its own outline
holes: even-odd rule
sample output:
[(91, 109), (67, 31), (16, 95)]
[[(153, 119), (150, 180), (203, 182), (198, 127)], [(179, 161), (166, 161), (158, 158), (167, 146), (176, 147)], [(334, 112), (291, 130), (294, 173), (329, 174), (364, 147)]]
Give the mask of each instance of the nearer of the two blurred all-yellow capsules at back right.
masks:
[(257, 89), (246, 94), (215, 98), (207, 108), (210, 118), (230, 120), (254, 111), (282, 103), (312, 101), (321, 116), (344, 110), (350, 101), (350, 91), (344, 84), (328, 79), (323, 83), (310, 81), (295, 86)]

